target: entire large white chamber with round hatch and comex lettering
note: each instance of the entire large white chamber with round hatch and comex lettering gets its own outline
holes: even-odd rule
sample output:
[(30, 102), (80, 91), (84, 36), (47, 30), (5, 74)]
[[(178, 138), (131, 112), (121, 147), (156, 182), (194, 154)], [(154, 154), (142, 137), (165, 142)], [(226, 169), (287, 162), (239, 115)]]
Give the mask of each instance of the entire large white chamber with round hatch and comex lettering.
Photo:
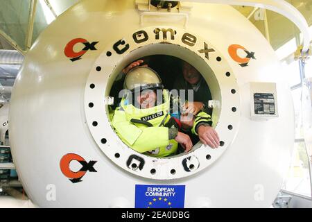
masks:
[[(175, 8), (155, 16), (154, 6), (142, 16), (133, 1), (81, 1), (38, 37), (12, 91), (9, 126), (19, 178), (34, 203), (141, 207), (148, 195), (175, 189), (180, 207), (272, 204), (294, 139), (280, 62), (234, 8), (187, 6), (187, 17), (169, 15)], [(114, 133), (112, 83), (129, 62), (159, 54), (189, 62), (209, 82), (223, 146), (198, 143), (185, 155), (155, 158)], [(196, 167), (187, 171), (184, 160)]]

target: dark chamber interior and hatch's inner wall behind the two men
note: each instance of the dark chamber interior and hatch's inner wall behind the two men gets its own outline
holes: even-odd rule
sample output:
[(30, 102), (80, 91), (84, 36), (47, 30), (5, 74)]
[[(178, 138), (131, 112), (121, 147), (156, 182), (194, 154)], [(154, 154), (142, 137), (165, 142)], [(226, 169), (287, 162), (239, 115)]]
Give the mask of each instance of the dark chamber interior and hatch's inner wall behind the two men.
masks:
[[(183, 62), (187, 62), (196, 68), (203, 77), (202, 80), (206, 81), (208, 85), (207, 94), (211, 94), (211, 99), (221, 102), (220, 86), (216, 79), (216, 74), (211, 67), (207, 65), (205, 60), (193, 51), (180, 45), (159, 43), (150, 44), (131, 51), (116, 65), (114, 71), (110, 75), (105, 92), (105, 96), (114, 97), (114, 105), (111, 105), (110, 108), (107, 105), (107, 114), (112, 113), (112, 110), (119, 105), (121, 100), (121, 98), (119, 98), (119, 92), (123, 89), (125, 76), (122, 70), (137, 60), (144, 60), (144, 63), (141, 65), (148, 65), (148, 67), (157, 71), (157, 74), (162, 78), (164, 88), (169, 91), (175, 89), (175, 81), (179, 81), (181, 78), (184, 80), (182, 64)], [(196, 98), (194, 98), (194, 101), (196, 101)], [(216, 126), (220, 115), (220, 108), (211, 109), (209, 112), (214, 122), (213, 126)], [(192, 137), (191, 133), (189, 133), (189, 135), (193, 142), (193, 148), (198, 148), (198, 137), (195, 135)], [(180, 155), (182, 155), (182, 153)]]

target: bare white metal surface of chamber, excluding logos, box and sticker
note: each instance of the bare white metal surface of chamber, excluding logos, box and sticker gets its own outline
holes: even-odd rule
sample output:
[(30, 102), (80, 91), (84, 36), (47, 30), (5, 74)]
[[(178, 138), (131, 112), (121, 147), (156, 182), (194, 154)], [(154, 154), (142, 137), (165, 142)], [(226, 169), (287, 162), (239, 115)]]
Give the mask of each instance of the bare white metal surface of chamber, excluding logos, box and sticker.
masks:
[[(294, 114), (290, 89), (266, 39), (234, 8), (219, 4), (193, 3), (186, 29), (183, 29), (183, 22), (177, 23), (174, 19), (159, 22), (155, 17), (146, 18), (144, 25), (139, 25), (139, 12), (132, 1), (82, 1), (46, 28), (28, 52), (12, 92), (9, 127), (14, 162), (31, 200), (40, 207), (134, 207), (135, 185), (152, 184), (186, 185), (185, 207), (272, 205), (288, 169), (294, 139)], [(138, 46), (132, 40), (135, 31), (147, 30), (150, 34), (151, 28), (164, 27), (177, 31), (175, 40), (168, 38), (163, 44), (168, 44), (167, 50), (154, 44), (150, 49), (141, 47), (141, 51), (129, 50), (118, 56), (112, 49), (112, 44), (119, 40), (130, 44), (130, 49), (136, 49)], [(196, 35), (198, 43), (207, 41), (209, 48), (213, 46), (216, 50), (216, 54), (209, 53), (211, 60), (220, 53), (223, 66), (215, 69), (214, 62), (199, 59), (197, 46), (187, 49), (169, 46), (170, 43), (181, 44), (180, 31)], [(64, 48), (78, 37), (89, 43), (98, 42), (95, 45), (97, 50), (88, 50), (80, 60), (72, 62), (64, 55)], [(149, 40), (157, 42), (155, 35), (150, 35)], [(125, 43), (119, 45), (119, 49), (123, 49)], [(248, 66), (242, 67), (229, 56), (228, 49), (232, 44), (240, 44), (254, 52), (255, 59), (250, 59)], [(83, 47), (83, 44), (77, 44), (75, 51), (79, 52)], [(108, 49), (111, 58), (105, 58)], [(110, 160), (114, 148), (123, 153), (130, 152), (130, 149), (121, 144), (112, 129), (108, 130), (107, 107), (105, 112), (103, 108), (98, 108), (94, 114), (86, 112), (86, 101), (91, 96), (86, 89), (89, 80), (95, 81), (94, 89), (99, 86), (94, 100), (101, 105), (116, 76), (114, 71), (141, 55), (139, 52), (144, 49), (150, 54), (162, 51), (186, 58), (205, 72), (202, 60), (216, 72), (215, 79), (204, 74), (211, 83), (213, 99), (221, 103), (220, 110), (214, 112), (214, 124), (222, 137), (232, 138), (232, 141), (226, 143), (230, 146), (214, 164), (198, 173), (175, 180), (147, 179), (139, 173), (129, 173), (125, 163), (122, 166)], [(193, 52), (185, 53), (188, 50)], [(189, 56), (191, 53), (194, 56)], [(246, 56), (244, 51), (237, 53)], [(102, 69), (95, 77), (94, 70), (98, 65)], [(227, 67), (232, 70), (235, 80), (222, 80)], [(277, 84), (278, 118), (269, 121), (250, 119), (250, 82)], [(236, 95), (239, 95), (240, 103), (236, 113), (229, 114), (227, 108), (237, 101), (225, 93), (232, 84), (238, 87)], [(91, 117), (103, 123), (98, 126), (106, 136), (107, 146), (99, 146), (98, 140), (94, 139), (98, 132), (90, 130)], [(223, 121), (234, 121), (234, 131), (225, 130)], [(222, 153), (223, 148), (211, 150), (206, 147), (196, 151), (200, 149)], [(85, 162), (97, 161), (94, 164), (97, 172), (87, 171), (82, 182), (71, 182), (60, 169), (60, 160), (69, 153), (79, 155)], [(171, 164), (171, 161), (175, 160), (160, 162)], [(200, 164), (204, 164), (201, 161)], [(80, 167), (74, 162), (70, 169), (79, 171)], [(162, 171), (168, 171), (168, 167), (163, 166)], [(51, 187), (55, 199), (47, 198)]]

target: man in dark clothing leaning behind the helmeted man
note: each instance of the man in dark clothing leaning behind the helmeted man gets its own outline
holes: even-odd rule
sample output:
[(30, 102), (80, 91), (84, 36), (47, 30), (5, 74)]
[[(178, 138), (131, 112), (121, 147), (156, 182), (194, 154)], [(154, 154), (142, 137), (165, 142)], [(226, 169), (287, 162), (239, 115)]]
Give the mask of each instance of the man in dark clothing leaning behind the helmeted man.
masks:
[[(157, 58), (158, 60), (159, 58)], [(150, 63), (150, 58), (132, 62), (128, 67), (123, 69), (123, 74), (127, 74), (134, 67), (148, 67), (147, 63)], [(154, 66), (155, 64), (153, 64)], [(196, 118), (190, 118), (192, 115), (196, 117), (202, 112), (207, 113), (209, 118), (211, 117), (212, 110), (208, 107), (208, 101), (211, 100), (211, 93), (205, 79), (188, 62), (180, 60), (177, 67), (181, 68), (183, 75), (177, 75), (173, 83), (173, 89), (184, 90), (184, 99), (189, 99), (182, 104), (181, 110), (183, 112), (182, 114), (180, 113), (181, 115), (178, 115), (182, 123), (181, 131), (189, 135), (194, 144), (200, 140), (203, 144), (209, 145), (211, 148), (218, 148), (220, 146), (220, 139), (216, 130), (211, 127), (211, 123), (201, 123), (200, 125), (203, 126), (198, 127), (198, 130), (193, 130)], [(171, 69), (171, 71), (173, 70)], [(171, 72), (166, 74), (171, 74)], [(189, 90), (193, 90), (193, 99), (189, 98)], [(185, 115), (187, 115), (187, 118), (185, 118)]]

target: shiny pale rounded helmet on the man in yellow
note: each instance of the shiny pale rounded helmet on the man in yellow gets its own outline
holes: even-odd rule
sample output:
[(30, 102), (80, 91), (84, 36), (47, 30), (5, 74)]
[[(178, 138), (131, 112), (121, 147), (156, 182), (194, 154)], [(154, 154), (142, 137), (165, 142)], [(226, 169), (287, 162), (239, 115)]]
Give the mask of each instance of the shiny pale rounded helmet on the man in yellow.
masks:
[(144, 89), (163, 89), (162, 80), (157, 72), (148, 67), (135, 67), (125, 76), (125, 89), (142, 91)]

